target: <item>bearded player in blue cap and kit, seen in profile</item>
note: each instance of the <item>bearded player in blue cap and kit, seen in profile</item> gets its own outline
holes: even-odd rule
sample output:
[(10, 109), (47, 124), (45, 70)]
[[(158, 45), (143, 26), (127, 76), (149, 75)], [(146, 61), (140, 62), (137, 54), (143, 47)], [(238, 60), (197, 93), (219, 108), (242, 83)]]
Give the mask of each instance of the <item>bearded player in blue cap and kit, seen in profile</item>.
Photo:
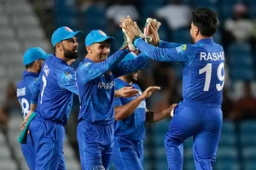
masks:
[(35, 148), (37, 170), (67, 169), (63, 155), (64, 126), (70, 116), (73, 94), (78, 94), (75, 72), (68, 64), (78, 57), (79, 43), (76, 36), (79, 33), (81, 31), (72, 31), (67, 26), (54, 31), (51, 42), (55, 54), (45, 59), (39, 76), (38, 96), (32, 95), (32, 104), (37, 106), (37, 116), (30, 123), (29, 130)]

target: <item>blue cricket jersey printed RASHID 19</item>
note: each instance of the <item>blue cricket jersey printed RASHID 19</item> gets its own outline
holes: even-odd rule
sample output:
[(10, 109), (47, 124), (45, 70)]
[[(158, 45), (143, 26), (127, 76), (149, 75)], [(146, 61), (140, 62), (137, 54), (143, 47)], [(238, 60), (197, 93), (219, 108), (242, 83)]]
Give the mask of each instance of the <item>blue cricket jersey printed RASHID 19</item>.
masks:
[(151, 59), (183, 64), (183, 99), (207, 105), (221, 105), (224, 87), (224, 50), (212, 38), (195, 44), (160, 41), (156, 48), (142, 39), (135, 45)]

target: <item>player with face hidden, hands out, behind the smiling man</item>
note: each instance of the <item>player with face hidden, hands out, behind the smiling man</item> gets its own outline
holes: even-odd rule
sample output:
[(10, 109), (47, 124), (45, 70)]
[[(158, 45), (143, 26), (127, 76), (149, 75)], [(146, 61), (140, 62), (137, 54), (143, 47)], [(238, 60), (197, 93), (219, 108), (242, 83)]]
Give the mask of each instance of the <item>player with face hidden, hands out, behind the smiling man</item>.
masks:
[[(134, 58), (127, 54), (125, 60)], [(145, 138), (145, 122), (159, 122), (170, 117), (176, 105), (164, 111), (148, 111), (145, 99), (160, 87), (149, 87), (144, 92), (135, 83), (138, 71), (116, 78), (115, 89), (132, 87), (140, 93), (131, 98), (114, 99), (114, 144), (112, 161), (117, 170), (143, 170), (143, 139)]]

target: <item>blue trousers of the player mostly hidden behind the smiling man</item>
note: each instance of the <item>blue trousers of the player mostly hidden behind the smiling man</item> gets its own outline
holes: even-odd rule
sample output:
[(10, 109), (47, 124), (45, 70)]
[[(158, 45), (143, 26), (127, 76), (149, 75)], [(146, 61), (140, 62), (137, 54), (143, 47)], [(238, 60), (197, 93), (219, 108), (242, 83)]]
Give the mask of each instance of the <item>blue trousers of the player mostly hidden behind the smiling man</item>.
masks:
[(143, 170), (143, 140), (115, 138), (112, 161), (116, 170)]

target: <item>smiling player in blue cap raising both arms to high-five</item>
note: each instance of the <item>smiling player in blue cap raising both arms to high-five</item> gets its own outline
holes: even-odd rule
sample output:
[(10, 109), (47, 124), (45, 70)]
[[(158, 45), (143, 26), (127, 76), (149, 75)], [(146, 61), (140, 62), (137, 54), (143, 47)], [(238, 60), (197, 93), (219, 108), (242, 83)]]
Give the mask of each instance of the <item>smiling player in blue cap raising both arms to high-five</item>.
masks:
[(114, 78), (142, 69), (148, 57), (121, 62), (128, 49), (119, 49), (113, 55), (110, 44), (113, 37), (94, 30), (85, 38), (88, 54), (77, 68), (77, 83), (81, 109), (77, 139), (82, 169), (108, 169), (113, 152), (113, 97)]

